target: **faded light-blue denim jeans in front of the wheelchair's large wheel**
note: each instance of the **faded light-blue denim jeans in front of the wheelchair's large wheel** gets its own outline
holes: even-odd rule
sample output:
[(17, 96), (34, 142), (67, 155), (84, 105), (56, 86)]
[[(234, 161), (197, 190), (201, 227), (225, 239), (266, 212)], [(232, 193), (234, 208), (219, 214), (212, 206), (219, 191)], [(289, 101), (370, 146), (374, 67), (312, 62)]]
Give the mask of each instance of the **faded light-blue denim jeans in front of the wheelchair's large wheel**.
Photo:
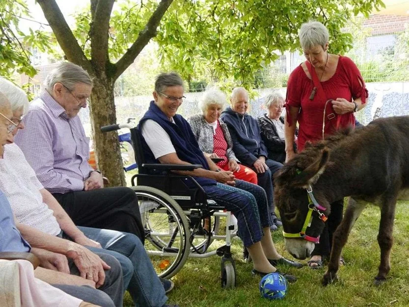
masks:
[[(136, 235), (109, 229), (78, 227), (86, 237), (97, 241), (112, 255), (120, 253), (131, 260), (133, 274), (127, 287), (136, 307), (162, 307), (167, 301), (164, 287), (145, 248)], [(122, 265), (121, 257), (117, 258)], [(128, 260), (128, 261), (129, 261)], [(127, 263), (124, 263), (128, 266)]]

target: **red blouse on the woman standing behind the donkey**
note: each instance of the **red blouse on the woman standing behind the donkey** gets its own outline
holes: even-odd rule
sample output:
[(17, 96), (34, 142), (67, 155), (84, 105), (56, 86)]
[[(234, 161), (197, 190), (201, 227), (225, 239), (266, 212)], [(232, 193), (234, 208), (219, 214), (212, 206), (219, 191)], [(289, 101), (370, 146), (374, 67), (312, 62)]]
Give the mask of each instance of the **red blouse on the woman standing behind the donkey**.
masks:
[[(346, 56), (340, 56), (335, 74), (327, 81), (321, 82), (325, 95), (328, 99), (345, 98), (348, 101), (361, 97), (362, 104), (366, 102), (368, 91), (362, 76), (354, 62)], [(314, 84), (307, 77), (301, 65), (291, 73), (287, 84), (286, 110), (287, 121), (291, 125), (289, 107), (300, 108), (297, 121), (299, 122), (299, 133), (297, 148), (304, 149), (305, 141), (322, 140), (324, 107), (327, 100), (320, 99), (322, 95), (315, 93), (314, 99), (310, 100)], [(317, 89), (319, 91), (319, 89)], [(327, 115), (335, 114), (335, 118), (328, 119)], [(353, 112), (343, 115), (336, 114), (331, 102), (327, 103), (325, 119), (325, 135), (333, 134), (336, 129), (345, 128), (348, 125), (355, 126)]]

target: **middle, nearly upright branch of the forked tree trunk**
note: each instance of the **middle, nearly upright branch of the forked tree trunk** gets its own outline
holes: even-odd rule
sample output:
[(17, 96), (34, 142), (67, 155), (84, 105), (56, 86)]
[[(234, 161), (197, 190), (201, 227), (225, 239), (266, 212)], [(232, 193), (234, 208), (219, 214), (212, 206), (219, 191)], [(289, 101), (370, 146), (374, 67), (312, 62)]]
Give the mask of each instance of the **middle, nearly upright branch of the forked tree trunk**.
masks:
[(105, 70), (108, 60), (109, 19), (115, 0), (99, 0), (89, 30), (91, 38), (91, 61), (95, 67)]

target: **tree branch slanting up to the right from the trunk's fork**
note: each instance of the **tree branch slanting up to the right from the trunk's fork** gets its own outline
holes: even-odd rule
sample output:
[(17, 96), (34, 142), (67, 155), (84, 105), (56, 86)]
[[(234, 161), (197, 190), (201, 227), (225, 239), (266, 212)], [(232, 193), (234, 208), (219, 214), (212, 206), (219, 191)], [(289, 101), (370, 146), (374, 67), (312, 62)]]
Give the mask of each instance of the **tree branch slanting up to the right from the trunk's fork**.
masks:
[(129, 48), (127, 52), (114, 64), (116, 69), (113, 80), (116, 80), (125, 71), (125, 69), (127, 69), (128, 66), (134, 62), (136, 56), (138, 56), (142, 49), (148, 44), (150, 39), (156, 36), (156, 29), (158, 28), (159, 23), (164, 17), (164, 13), (172, 1), (173, 0), (162, 0), (159, 3), (155, 12), (153, 12), (151, 18), (149, 18), (145, 28), (139, 32), (139, 35), (136, 38), (136, 41), (132, 44), (131, 48)]

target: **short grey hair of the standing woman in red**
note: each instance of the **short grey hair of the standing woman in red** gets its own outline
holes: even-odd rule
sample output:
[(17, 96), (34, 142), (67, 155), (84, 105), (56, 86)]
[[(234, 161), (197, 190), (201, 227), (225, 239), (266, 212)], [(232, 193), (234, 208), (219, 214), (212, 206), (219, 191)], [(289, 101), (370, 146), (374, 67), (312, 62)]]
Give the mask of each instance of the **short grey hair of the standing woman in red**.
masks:
[(310, 49), (317, 45), (324, 48), (329, 39), (327, 27), (318, 21), (302, 24), (298, 36), (300, 37), (302, 49)]

